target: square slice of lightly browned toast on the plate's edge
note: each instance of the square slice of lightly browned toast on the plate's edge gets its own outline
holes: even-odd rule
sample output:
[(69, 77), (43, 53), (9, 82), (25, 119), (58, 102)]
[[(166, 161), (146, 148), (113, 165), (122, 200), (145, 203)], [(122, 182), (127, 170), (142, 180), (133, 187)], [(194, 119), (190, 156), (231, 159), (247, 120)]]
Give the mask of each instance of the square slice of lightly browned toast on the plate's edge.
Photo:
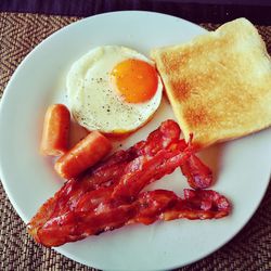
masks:
[(208, 146), (271, 125), (271, 60), (254, 25), (238, 18), (189, 43), (151, 52), (189, 140)]

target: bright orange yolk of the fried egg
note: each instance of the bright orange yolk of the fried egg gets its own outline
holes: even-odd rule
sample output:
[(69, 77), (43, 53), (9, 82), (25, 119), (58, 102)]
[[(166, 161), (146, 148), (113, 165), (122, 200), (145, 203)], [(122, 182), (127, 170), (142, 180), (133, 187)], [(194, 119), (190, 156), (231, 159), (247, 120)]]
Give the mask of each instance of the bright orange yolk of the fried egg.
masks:
[(113, 81), (128, 103), (143, 103), (156, 92), (158, 76), (155, 68), (140, 60), (126, 60), (112, 72)]

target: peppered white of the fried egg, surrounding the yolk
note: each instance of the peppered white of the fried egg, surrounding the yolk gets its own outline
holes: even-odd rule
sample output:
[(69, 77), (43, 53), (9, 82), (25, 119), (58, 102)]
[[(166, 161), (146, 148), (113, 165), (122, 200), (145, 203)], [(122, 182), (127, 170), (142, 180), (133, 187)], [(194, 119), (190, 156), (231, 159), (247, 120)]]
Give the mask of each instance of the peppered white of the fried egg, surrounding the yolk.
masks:
[(145, 124), (158, 108), (163, 85), (158, 77), (157, 91), (144, 103), (128, 103), (111, 80), (113, 68), (128, 59), (154, 65), (134, 50), (118, 46), (92, 49), (76, 61), (67, 74), (67, 96), (76, 121), (88, 130), (107, 133), (132, 131)]

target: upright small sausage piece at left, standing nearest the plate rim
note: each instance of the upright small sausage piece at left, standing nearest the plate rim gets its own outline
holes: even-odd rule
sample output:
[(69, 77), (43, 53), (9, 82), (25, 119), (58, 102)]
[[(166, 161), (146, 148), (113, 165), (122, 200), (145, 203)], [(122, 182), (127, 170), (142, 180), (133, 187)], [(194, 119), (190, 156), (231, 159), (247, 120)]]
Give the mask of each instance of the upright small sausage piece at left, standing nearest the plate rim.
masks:
[(50, 105), (47, 109), (40, 153), (59, 156), (67, 151), (70, 114), (63, 104)]

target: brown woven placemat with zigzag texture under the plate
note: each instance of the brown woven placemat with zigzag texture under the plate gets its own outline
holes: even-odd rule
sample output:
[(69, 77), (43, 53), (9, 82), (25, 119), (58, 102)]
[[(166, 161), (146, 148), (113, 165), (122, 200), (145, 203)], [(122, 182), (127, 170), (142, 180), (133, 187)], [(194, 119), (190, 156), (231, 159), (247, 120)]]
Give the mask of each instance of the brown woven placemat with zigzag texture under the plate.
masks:
[[(79, 17), (0, 13), (0, 93), (18, 63), (35, 46), (77, 20)], [(208, 29), (218, 26), (202, 25)], [(259, 26), (258, 29), (271, 52), (271, 26)], [(0, 270), (96, 270), (37, 245), (26, 233), (26, 227), (1, 183), (0, 217)], [(179, 270), (271, 270), (271, 185), (257, 212), (230, 243)]]

